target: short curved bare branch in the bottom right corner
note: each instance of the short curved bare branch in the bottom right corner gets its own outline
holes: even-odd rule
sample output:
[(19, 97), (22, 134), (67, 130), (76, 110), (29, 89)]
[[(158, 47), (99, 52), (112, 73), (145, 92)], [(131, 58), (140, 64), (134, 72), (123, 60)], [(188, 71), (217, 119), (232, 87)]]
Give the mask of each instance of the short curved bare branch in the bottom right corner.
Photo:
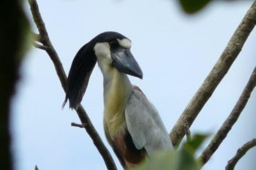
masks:
[(246, 154), (246, 152), (256, 146), (256, 138), (251, 141), (245, 143), (242, 147), (237, 150), (236, 155), (228, 161), (228, 164), (225, 170), (234, 170), (237, 162)]

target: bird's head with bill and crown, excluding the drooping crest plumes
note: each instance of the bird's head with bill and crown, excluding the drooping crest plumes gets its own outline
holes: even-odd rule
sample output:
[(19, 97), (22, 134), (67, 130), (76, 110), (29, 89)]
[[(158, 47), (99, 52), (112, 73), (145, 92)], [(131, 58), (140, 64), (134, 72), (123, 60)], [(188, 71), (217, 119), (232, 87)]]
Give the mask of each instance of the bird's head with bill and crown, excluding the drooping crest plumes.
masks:
[(142, 79), (140, 66), (130, 51), (131, 40), (116, 32), (105, 32), (92, 42), (99, 65), (113, 66), (122, 73)]

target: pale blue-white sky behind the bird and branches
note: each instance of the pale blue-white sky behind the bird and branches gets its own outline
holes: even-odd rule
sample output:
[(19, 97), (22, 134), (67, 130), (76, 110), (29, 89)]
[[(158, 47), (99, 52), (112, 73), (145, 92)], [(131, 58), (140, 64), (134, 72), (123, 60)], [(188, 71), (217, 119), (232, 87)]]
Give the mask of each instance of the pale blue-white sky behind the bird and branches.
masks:
[[(176, 1), (175, 1), (176, 2)], [(131, 51), (143, 80), (130, 77), (158, 109), (168, 131), (200, 87), (252, 1), (213, 2), (189, 16), (168, 0), (38, 0), (50, 39), (68, 73), (79, 48), (104, 31), (132, 40)], [(29, 7), (27, 12), (30, 15)], [(36, 29), (35, 29), (36, 30)], [(256, 30), (191, 127), (215, 133), (227, 118), (256, 65)], [(104, 161), (80, 128), (75, 112), (61, 110), (64, 92), (45, 51), (32, 48), (21, 70), (13, 103), (16, 169), (103, 170)], [(256, 93), (204, 170), (224, 169), (237, 149), (255, 137)], [(95, 67), (82, 101), (91, 121), (122, 169), (103, 131), (103, 79)], [(209, 138), (210, 140), (210, 138)], [(204, 147), (208, 144), (205, 142)], [(256, 148), (237, 164), (254, 170)]]

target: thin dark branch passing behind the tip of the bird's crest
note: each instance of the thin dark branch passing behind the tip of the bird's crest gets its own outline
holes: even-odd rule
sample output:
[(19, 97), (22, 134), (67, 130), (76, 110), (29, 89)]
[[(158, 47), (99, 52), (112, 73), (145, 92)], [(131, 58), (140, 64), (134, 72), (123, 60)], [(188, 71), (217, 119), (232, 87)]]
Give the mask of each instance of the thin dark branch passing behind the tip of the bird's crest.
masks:
[[(31, 12), (32, 12), (32, 15), (33, 15), (33, 19), (34, 19), (35, 24), (38, 28), (39, 33), (40, 33), (40, 40), (41, 40), (40, 42), (42, 42), (42, 44), (44, 46), (47, 46), (46, 52), (48, 53), (51, 60), (53, 61), (53, 64), (55, 66), (57, 75), (60, 79), (62, 88), (65, 91), (67, 76), (66, 76), (65, 71), (63, 69), (62, 63), (59, 59), (59, 56), (58, 56), (57, 52), (55, 51), (55, 49), (54, 49), (54, 47), (53, 47), (53, 45), (52, 45), (52, 43), (51, 43), (51, 41), (48, 37), (48, 33), (46, 31), (43, 19), (41, 17), (40, 12), (39, 12), (37, 2), (36, 2), (36, 0), (29, 0), (28, 2), (30, 4), (30, 9), (31, 9)], [(117, 170), (112, 156), (110, 155), (108, 149), (104, 145), (104, 143), (103, 143), (102, 139), (100, 138), (98, 132), (96, 131), (96, 129), (92, 125), (92, 123), (91, 123), (86, 111), (84, 110), (84, 108), (81, 105), (79, 105), (76, 112), (77, 112), (77, 114), (80, 118), (81, 123), (86, 125), (84, 128), (86, 129), (87, 133), (92, 138), (93, 143), (96, 146), (96, 148), (98, 149), (98, 151), (100, 152), (102, 158), (104, 159), (104, 162), (105, 162), (108, 170)]]

